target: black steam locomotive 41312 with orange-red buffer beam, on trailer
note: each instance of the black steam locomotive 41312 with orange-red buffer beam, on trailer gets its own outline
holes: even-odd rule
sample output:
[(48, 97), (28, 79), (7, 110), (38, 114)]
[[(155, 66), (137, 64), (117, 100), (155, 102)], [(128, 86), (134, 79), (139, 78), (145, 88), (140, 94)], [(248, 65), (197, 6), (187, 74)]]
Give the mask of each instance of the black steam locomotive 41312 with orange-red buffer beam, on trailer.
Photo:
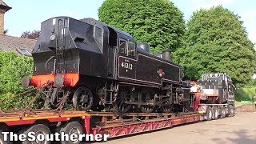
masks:
[(79, 110), (102, 106), (122, 113), (190, 107), (190, 87), (170, 51), (152, 55), (147, 43), (136, 45), (130, 34), (93, 18), (42, 22), (32, 56), (34, 74), (23, 86), (42, 87), (52, 108), (63, 99)]

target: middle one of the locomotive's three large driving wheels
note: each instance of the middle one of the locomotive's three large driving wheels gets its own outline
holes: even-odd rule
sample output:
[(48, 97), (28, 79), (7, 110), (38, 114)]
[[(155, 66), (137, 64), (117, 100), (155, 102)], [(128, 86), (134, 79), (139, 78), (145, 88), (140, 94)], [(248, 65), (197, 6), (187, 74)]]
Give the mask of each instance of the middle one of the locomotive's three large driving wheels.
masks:
[[(154, 90), (143, 89), (140, 92), (141, 101), (140, 102), (154, 102)], [(142, 105), (141, 110), (143, 113), (150, 113), (154, 110), (154, 105)]]

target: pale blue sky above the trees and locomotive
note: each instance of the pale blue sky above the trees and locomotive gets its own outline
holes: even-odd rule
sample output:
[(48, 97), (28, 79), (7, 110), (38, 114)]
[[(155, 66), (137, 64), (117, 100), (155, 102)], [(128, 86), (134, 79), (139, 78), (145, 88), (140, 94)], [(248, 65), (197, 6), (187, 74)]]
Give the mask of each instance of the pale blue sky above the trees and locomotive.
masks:
[[(98, 8), (104, 0), (3, 0), (12, 7), (5, 16), (5, 30), (8, 34), (20, 37), (27, 30), (40, 30), (41, 22), (56, 16), (71, 18), (98, 19)], [(256, 43), (256, 1), (255, 0), (170, 0), (190, 19), (194, 11), (210, 9), (212, 6), (223, 7), (241, 16), (248, 37)]]

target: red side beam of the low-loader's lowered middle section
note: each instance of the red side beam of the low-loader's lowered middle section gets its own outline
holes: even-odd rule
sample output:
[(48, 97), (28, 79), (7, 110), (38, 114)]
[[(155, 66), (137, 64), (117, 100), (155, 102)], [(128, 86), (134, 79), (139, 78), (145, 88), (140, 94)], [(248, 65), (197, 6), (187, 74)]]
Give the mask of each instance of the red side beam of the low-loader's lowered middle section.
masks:
[(161, 130), (190, 122), (199, 122), (201, 116), (192, 114), (179, 116), (177, 118), (154, 118), (146, 120), (129, 119), (118, 122), (106, 122), (105, 126), (96, 126), (91, 129), (91, 134), (110, 134), (110, 138), (126, 136), (130, 134), (138, 134), (153, 130)]

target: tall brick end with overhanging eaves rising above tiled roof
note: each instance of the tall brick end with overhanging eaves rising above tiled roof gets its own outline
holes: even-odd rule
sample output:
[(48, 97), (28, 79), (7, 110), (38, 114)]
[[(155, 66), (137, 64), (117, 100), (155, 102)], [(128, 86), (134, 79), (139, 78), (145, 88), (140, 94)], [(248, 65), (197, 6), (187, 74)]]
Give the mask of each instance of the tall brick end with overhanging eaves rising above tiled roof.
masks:
[(5, 13), (10, 10), (11, 7), (6, 5), (5, 2), (0, 0), (0, 34), (3, 34), (5, 27)]

